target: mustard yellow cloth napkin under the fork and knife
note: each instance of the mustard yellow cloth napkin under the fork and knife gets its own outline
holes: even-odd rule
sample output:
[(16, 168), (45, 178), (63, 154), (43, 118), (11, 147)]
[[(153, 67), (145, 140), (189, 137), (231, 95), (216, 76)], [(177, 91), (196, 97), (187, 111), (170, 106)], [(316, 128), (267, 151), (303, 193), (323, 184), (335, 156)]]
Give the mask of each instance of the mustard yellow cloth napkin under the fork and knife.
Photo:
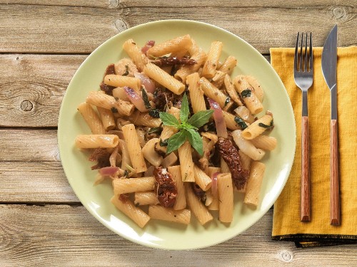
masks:
[(298, 247), (357, 243), (357, 46), (338, 48), (338, 145), (341, 225), (330, 225), (330, 91), (321, 71), (322, 48), (313, 48), (313, 86), (308, 90), (311, 221), (300, 221), (301, 90), (293, 79), (294, 48), (271, 48), (271, 65), (283, 81), (296, 120), (291, 174), (273, 209), (273, 240)]

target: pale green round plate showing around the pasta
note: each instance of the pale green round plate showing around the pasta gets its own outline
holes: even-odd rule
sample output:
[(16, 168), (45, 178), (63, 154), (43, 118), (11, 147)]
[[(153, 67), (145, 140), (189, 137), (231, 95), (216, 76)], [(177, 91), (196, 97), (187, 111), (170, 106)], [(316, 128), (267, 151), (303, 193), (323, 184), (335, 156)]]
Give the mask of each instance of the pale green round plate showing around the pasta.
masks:
[[(110, 183), (93, 186), (96, 171), (91, 171), (92, 162), (88, 161), (87, 155), (74, 147), (76, 135), (90, 133), (76, 107), (84, 102), (89, 91), (99, 90), (106, 66), (126, 56), (121, 49), (124, 41), (133, 38), (141, 46), (148, 40), (160, 43), (186, 33), (206, 51), (209, 50), (211, 41), (222, 41), (221, 59), (229, 55), (238, 59), (233, 75), (249, 74), (258, 79), (265, 91), (264, 108), (273, 112), (276, 127), (271, 135), (278, 139), (278, 147), (263, 158), (266, 173), (259, 206), (252, 209), (243, 205), (243, 194), (236, 193), (234, 218), (230, 225), (221, 224), (214, 219), (206, 226), (201, 226), (192, 216), (189, 226), (151, 220), (144, 229), (140, 229), (109, 201), (113, 195)], [(115, 233), (136, 243), (154, 248), (181, 250), (212, 246), (231, 239), (266, 214), (288, 179), (295, 152), (296, 127), (283, 83), (255, 48), (216, 26), (196, 21), (168, 20), (146, 23), (119, 33), (86, 58), (66, 90), (59, 115), (58, 139), (61, 161), (69, 183), (81, 203), (96, 219)], [(217, 218), (217, 214), (213, 216)]]

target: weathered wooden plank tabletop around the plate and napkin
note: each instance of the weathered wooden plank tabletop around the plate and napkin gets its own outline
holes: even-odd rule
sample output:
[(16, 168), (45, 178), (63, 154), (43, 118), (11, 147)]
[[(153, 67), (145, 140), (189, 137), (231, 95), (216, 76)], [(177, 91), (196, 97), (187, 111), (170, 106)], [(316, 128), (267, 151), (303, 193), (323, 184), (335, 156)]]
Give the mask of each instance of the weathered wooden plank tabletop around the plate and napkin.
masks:
[(86, 211), (59, 158), (56, 127), (69, 81), (94, 48), (127, 28), (204, 21), (268, 59), (271, 47), (293, 47), (297, 31), (312, 31), (314, 45), (323, 46), (335, 23), (338, 46), (357, 44), (356, 0), (296, 2), (0, 0), (0, 266), (357, 266), (356, 245), (301, 249), (271, 241), (272, 209), (210, 248), (134, 244)]

